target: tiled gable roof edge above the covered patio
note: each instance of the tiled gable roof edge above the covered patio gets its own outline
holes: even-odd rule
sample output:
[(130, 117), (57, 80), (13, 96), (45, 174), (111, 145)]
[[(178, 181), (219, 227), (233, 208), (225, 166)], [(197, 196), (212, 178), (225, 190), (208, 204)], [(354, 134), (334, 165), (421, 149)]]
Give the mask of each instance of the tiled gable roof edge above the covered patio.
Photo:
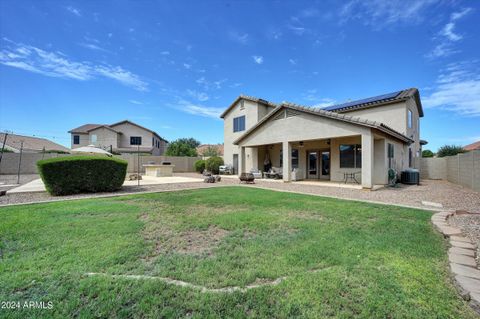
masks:
[(249, 130), (247, 130), (242, 136), (240, 136), (238, 139), (236, 139), (233, 143), (238, 144), (239, 142), (241, 142), (244, 138), (246, 138), (248, 135), (250, 135), (252, 132), (254, 132), (258, 127), (260, 127), (263, 123), (268, 121), (268, 119), (270, 119), (274, 114), (278, 113), (278, 111), (280, 111), (281, 109), (292, 109), (292, 110), (295, 110), (295, 111), (300, 111), (300, 112), (303, 112), (303, 113), (313, 114), (313, 115), (317, 115), (317, 116), (321, 116), (321, 117), (325, 117), (325, 118), (329, 118), (329, 119), (333, 119), (333, 120), (337, 120), (337, 121), (341, 121), (341, 122), (346, 122), (346, 123), (356, 124), (356, 125), (360, 125), (360, 126), (375, 128), (375, 129), (377, 129), (381, 132), (384, 132), (384, 133), (386, 133), (390, 136), (393, 136), (393, 137), (395, 137), (395, 138), (397, 138), (397, 139), (399, 139), (403, 142), (406, 142), (406, 143), (412, 143), (413, 142), (413, 140), (411, 138), (403, 135), (400, 132), (397, 132), (396, 130), (392, 129), (391, 127), (389, 127), (389, 126), (387, 126), (383, 123), (380, 123), (380, 122), (370, 121), (370, 120), (363, 119), (363, 118), (356, 117), (356, 116), (349, 116), (349, 115), (345, 115), (345, 114), (339, 114), (339, 113), (335, 113), (335, 112), (331, 112), (331, 111), (326, 111), (326, 110), (321, 109), (321, 108), (312, 108), (312, 107), (307, 107), (307, 106), (302, 106), (302, 105), (298, 105), (298, 104), (284, 102), (280, 106), (278, 106), (276, 110), (274, 110), (273, 112), (270, 112), (267, 116), (262, 118), (257, 124), (255, 124)]

